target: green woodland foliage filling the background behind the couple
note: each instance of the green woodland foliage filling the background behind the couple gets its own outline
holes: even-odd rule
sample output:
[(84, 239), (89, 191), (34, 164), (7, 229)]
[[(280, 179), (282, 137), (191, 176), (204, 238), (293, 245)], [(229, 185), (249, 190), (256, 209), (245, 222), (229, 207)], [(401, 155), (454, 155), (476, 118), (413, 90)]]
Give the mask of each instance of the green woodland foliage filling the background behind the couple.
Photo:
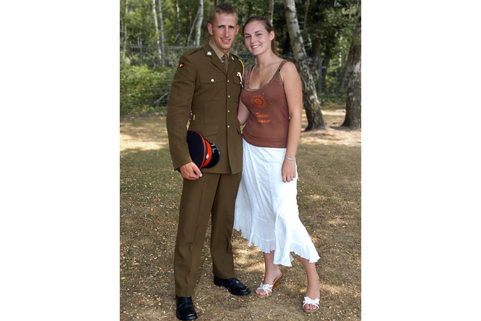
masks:
[[(159, 0), (155, 0), (157, 8)], [(158, 53), (155, 42), (155, 28), (152, 14), (152, 0), (120, 0), (120, 49), (126, 40), (125, 66), (120, 66), (120, 114), (137, 114), (153, 112), (165, 108), (168, 101), (170, 81), (173, 78), (178, 58), (192, 46), (195, 31), (190, 43), (187, 38), (194, 24), (199, 6), (198, 0), (178, 0), (180, 33), (178, 34), (176, 0), (161, 0), (164, 29), (165, 51), (162, 53), (165, 68), (158, 67)], [(204, 0), (204, 17), (200, 45), (209, 39), (207, 23), (214, 4), (221, 1)], [(254, 15), (269, 16), (269, 1), (232, 0), (237, 9), (239, 35), (232, 45), (232, 52), (237, 54), (246, 67), (255, 63), (255, 58), (246, 50), (242, 28), (245, 21)], [(347, 65), (352, 33), (356, 22), (358, 0), (310, 0), (296, 2), (298, 21), (303, 29), (307, 10), (306, 28), (302, 30), (308, 56), (313, 57), (313, 78), (319, 81), (316, 67), (318, 55), (329, 57), (326, 78), (323, 80), (321, 101), (323, 104), (345, 101), (346, 81), (343, 81)], [(284, 4), (280, 0), (274, 3), (273, 26), (276, 32), (278, 54), (285, 59), (293, 59), (289, 33), (285, 17)], [(126, 34), (124, 34), (124, 27)], [(159, 28), (160, 29), (160, 28)], [(176, 46), (176, 47), (172, 47)], [(178, 48), (179, 47), (179, 48)], [(182, 47), (182, 48), (180, 48)], [(122, 55), (121, 55), (122, 56)], [(317, 56), (317, 57), (314, 57)], [(344, 85), (344, 86), (343, 86)]]

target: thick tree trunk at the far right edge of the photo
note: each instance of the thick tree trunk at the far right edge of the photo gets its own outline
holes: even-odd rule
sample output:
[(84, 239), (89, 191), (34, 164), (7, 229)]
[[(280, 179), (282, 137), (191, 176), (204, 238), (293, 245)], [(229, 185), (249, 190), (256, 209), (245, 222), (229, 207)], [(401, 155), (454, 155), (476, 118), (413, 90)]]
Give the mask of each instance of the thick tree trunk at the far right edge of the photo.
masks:
[(357, 16), (356, 29), (349, 50), (346, 117), (342, 124), (342, 126), (350, 129), (361, 128), (361, 9), (359, 9)]

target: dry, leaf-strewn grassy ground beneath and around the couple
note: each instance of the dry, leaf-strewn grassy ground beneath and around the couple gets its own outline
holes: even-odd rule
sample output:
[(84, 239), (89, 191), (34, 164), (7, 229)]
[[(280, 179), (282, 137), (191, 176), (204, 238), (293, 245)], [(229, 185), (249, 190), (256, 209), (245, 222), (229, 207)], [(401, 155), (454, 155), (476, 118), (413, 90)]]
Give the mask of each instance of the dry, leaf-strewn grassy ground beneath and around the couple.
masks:
[[(299, 260), (281, 266), (269, 298), (230, 295), (212, 283), (209, 235), (193, 296), (199, 320), (361, 319), (361, 131), (340, 129), (344, 110), (323, 106), (330, 126), (301, 134), (296, 155), (301, 221), (321, 256), (320, 311), (302, 311), (307, 278)], [(303, 127), (307, 121), (304, 119)], [(165, 117), (120, 123), (120, 320), (177, 320), (173, 247), (182, 188), (171, 169)], [(210, 227), (209, 227), (210, 229)], [(234, 230), (236, 276), (252, 292), (264, 276), (262, 253)]]

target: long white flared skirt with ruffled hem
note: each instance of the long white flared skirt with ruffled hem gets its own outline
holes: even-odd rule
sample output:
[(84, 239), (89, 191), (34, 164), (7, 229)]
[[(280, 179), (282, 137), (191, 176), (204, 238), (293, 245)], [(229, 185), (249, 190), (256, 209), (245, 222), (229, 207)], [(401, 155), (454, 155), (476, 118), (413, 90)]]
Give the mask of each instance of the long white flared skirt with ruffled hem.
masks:
[(299, 219), (296, 178), (282, 181), (286, 148), (258, 147), (243, 139), (243, 168), (235, 200), (234, 226), (263, 252), (274, 250), (274, 264), (292, 266), (291, 252), (309, 262), (319, 254)]

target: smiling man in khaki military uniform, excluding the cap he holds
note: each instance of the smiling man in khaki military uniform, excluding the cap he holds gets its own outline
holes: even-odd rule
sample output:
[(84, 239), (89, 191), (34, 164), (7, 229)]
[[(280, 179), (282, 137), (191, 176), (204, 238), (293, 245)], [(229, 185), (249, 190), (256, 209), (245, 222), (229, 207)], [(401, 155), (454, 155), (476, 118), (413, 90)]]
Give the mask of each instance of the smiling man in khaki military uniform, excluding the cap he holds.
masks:
[[(176, 315), (181, 320), (197, 318), (192, 294), (210, 213), (214, 284), (226, 287), (234, 295), (251, 293), (234, 277), (230, 242), (242, 171), (237, 107), (244, 66), (229, 53), (239, 30), (235, 8), (228, 4), (215, 6), (207, 28), (210, 41), (180, 57), (167, 111), (170, 155), (174, 169), (183, 177), (174, 253)], [(189, 129), (200, 132), (220, 151), (218, 163), (202, 172), (189, 155), (189, 117)]]

